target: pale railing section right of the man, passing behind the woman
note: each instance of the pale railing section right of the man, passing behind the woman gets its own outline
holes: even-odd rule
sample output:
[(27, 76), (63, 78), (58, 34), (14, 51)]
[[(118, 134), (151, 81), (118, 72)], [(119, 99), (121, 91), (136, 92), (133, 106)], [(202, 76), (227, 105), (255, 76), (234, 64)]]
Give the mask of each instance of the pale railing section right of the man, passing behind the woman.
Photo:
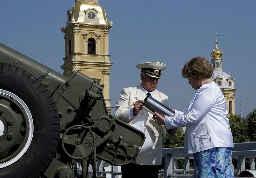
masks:
[[(164, 148), (164, 169), (160, 171), (159, 177), (197, 177), (195, 166), (190, 169), (190, 162), (194, 161), (193, 154), (185, 153), (183, 147)], [(234, 175), (239, 175), (244, 170), (255, 170), (256, 142), (235, 143), (232, 152), (232, 167)], [(179, 169), (177, 160), (184, 161), (183, 168)], [(237, 167), (234, 169), (234, 159), (237, 159)], [(249, 166), (245, 168), (245, 159), (249, 160)], [(193, 164), (195, 165), (195, 164)]]

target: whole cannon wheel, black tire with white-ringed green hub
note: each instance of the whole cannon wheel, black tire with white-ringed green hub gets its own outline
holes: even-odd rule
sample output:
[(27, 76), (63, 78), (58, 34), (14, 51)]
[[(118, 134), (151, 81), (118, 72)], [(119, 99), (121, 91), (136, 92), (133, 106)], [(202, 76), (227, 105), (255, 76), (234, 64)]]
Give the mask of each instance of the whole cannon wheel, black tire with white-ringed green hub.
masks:
[(0, 177), (39, 177), (55, 156), (59, 135), (57, 108), (45, 86), (0, 63)]

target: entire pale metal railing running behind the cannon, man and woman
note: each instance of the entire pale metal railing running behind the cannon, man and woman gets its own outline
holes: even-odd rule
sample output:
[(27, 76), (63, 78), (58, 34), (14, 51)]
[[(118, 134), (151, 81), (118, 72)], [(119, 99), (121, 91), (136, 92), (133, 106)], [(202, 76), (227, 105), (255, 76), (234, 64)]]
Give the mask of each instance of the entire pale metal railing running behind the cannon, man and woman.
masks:
[[(162, 154), (164, 159), (164, 169), (160, 170), (159, 177), (197, 177), (196, 168), (190, 167), (191, 162), (195, 165), (193, 162), (193, 154), (185, 153), (183, 147), (164, 148), (162, 149)], [(234, 175), (237, 176), (244, 170), (255, 170), (254, 158), (256, 158), (256, 142), (235, 143), (232, 152)], [(235, 166), (234, 169), (233, 163), (235, 163), (235, 159), (237, 160), (237, 166)], [(183, 161), (182, 168), (178, 167), (178, 160)], [(245, 166), (245, 160), (249, 161), (247, 167)], [(103, 170), (103, 168), (105, 170)], [(89, 168), (89, 178), (91, 175), (92, 170)], [(106, 175), (107, 178), (120, 178), (121, 169), (118, 166), (103, 167), (102, 161), (100, 160), (97, 162), (97, 175)]]

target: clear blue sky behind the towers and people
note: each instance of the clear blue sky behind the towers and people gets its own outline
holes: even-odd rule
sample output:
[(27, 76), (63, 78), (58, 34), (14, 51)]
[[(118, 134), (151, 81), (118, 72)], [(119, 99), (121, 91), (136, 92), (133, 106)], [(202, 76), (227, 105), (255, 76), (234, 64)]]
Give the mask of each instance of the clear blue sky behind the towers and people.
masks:
[[(0, 42), (62, 73), (66, 13), (75, 0), (1, 1)], [(211, 61), (223, 51), (223, 71), (235, 79), (235, 112), (246, 117), (256, 107), (255, 0), (98, 0), (113, 21), (109, 30), (111, 106), (122, 88), (141, 83), (142, 62), (167, 65), (158, 89), (170, 107), (185, 111), (195, 90), (182, 78), (184, 64), (195, 56)], [(111, 114), (114, 114), (115, 109)]]

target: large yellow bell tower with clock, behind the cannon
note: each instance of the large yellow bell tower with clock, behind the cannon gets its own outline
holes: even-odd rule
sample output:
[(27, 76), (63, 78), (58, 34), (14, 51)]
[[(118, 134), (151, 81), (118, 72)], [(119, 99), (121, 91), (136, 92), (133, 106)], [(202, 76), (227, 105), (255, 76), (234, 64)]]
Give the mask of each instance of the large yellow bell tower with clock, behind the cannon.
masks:
[(109, 98), (110, 66), (108, 54), (109, 29), (106, 13), (98, 0), (75, 0), (67, 11), (65, 34), (65, 57), (61, 66), (63, 74), (70, 76), (76, 70), (104, 84), (103, 96), (108, 113), (113, 108)]

